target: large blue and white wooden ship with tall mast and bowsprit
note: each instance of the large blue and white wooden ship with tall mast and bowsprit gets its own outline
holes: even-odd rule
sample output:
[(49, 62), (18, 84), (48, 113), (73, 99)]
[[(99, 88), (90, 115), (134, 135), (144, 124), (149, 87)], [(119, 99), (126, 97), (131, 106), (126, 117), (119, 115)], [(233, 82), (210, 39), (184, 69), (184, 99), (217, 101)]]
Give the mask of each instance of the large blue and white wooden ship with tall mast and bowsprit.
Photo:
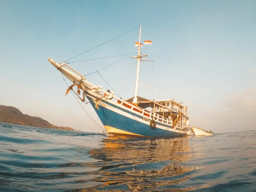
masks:
[(135, 44), (138, 47), (138, 54), (131, 57), (137, 59), (135, 94), (128, 100), (117, 97), (114, 91), (106, 91), (102, 86), (87, 81), (84, 75), (65, 62), (57, 63), (51, 58), (48, 58), (48, 61), (73, 82), (66, 94), (70, 90), (74, 91), (73, 87), (76, 86), (78, 90), (74, 93), (82, 102), (85, 102), (87, 97), (89, 100), (87, 103), (91, 103), (109, 134), (150, 138), (190, 135), (189, 116), (184, 103), (178, 103), (174, 99), (155, 101), (138, 96), (140, 61), (150, 61), (142, 59), (147, 55), (140, 53), (142, 47), (140, 40), (141, 26), (139, 42)]

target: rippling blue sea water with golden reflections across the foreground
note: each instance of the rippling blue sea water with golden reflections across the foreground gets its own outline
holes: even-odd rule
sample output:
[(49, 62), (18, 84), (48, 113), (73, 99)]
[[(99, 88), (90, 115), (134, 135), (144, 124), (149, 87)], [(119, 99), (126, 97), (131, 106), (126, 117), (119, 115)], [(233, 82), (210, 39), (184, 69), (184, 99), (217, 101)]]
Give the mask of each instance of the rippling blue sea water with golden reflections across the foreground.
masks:
[(147, 139), (0, 123), (0, 191), (256, 192), (256, 131)]

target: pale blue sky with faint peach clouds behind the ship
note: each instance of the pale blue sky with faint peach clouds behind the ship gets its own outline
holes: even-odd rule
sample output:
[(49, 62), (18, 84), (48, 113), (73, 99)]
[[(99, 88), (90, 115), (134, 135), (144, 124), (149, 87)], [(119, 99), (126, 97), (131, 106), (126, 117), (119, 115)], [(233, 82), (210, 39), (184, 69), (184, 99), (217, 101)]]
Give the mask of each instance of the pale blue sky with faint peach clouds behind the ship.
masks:
[[(56, 126), (100, 132), (47, 58), (64, 62), (142, 26), (139, 96), (185, 102), (191, 127), (256, 129), (256, 1), (0, 0), (0, 105)], [(136, 53), (139, 29), (69, 62)], [(129, 55), (70, 64), (89, 74)], [(100, 71), (123, 99), (134, 96), (137, 63)], [(87, 80), (110, 87), (98, 74)], [(67, 81), (68, 82), (68, 81)], [(71, 82), (68, 82), (71, 85)], [(171, 85), (171, 86), (170, 86)], [(84, 109), (98, 122), (90, 105)]]

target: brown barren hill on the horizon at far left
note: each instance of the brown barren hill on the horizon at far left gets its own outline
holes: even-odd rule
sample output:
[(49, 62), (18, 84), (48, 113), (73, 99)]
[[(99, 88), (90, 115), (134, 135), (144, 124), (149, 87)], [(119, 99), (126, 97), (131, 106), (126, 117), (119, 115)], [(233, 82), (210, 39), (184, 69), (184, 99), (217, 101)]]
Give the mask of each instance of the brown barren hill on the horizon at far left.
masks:
[(27, 114), (23, 114), (15, 107), (4, 105), (0, 105), (0, 122), (50, 129), (74, 130), (70, 127), (54, 126), (40, 117), (31, 117)]

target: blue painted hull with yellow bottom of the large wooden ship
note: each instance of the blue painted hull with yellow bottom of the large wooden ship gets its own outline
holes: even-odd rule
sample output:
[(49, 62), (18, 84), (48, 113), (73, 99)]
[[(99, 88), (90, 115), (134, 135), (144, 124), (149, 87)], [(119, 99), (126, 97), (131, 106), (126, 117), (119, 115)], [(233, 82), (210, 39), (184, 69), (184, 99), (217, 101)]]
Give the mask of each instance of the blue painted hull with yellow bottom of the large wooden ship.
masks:
[[(107, 105), (112, 106), (117, 110), (122, 110), (123, 112), (127, 113), (128, 116), (132, 116), (132, 118), (126, 117), (122, 114), (114, 112), (106, 107), (98, 105), (97, 109), (95, 107), (95, 103), (92, 101), (90, 97), (87, 97), (92, 104), (92, 107), (96, 111), (98, 117), (100, 118), (101, 122), (103, 123), (104, 127), (107, 129), (108, 133), (110, 134), (119, 134), (119, 135), (130, 135), (136, 137), (154, 137), (154, 138), (162, 138), (162, 137), (183, 137), (185, 133), (179, 133), (173, 131), (171, 126), (166, 127), (165, 129), (158, 128), (151, 128), (149, 122), (143, 123), (139, 122), (136, 119), (141, 118), (135, 113), (129, 112), (127, 110), (121, 109), (117, 106), (112, 105), (111, 103), (104, 101)], [(148, 123), (148, 124), (146, 124)], [(160, 125), (159, 122), (156, 123)]]

